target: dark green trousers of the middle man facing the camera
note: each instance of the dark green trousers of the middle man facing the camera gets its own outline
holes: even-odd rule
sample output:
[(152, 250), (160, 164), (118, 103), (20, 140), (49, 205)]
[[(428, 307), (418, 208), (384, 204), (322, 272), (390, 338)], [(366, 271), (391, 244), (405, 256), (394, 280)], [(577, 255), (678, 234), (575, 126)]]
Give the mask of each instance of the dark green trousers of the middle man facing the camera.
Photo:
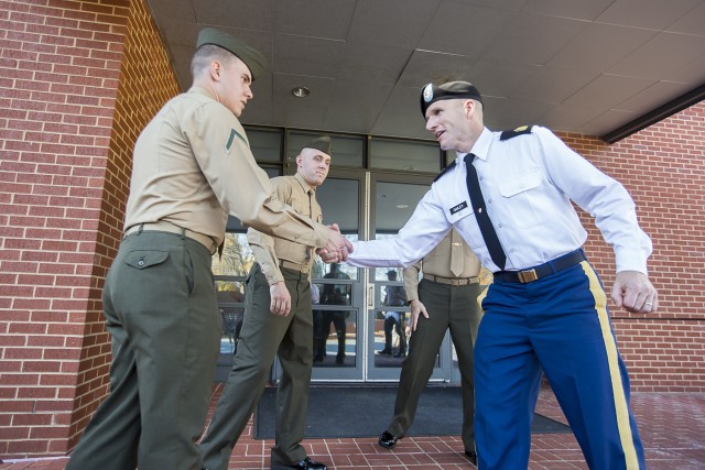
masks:
[(227, 470), (232, 448), (262, 396), (274, 356), (282, 364), (276, 390), (276, 436), (272, 466), (300, 462), (308, 409), (313, 365), (313, 314), (307, 274), (282, 267), (291, 294), (288, 316), (270, 311), (270, 291), (259, 264), (247, 280), (245, 321), (238, 339), (232, 370), (216, 406), (206, 437), (200, 442), (203, 466)]

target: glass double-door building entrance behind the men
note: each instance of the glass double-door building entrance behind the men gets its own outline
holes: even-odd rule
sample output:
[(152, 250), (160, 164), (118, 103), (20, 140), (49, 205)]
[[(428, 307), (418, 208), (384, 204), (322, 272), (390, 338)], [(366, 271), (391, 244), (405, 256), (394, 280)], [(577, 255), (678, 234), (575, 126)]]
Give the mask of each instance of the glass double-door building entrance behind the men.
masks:
[[(317, 189), (317, 200), (324, 223), (338, 223), (350, 240), (381, 239), (399, 231), (430, 183), (429, 176), (332, 171)], [(214, 262), (224, 329), (218, 363), (221, 378), (237, 352), (239, 326), (246, 315), (245, 281), (253, 262), (245, 233), (234, 228), (223, 259)], [(402, 272), (401, 267), (357, 269), (319, 260), (313, 265), (314, 382), (399, 380), (411, 334)], [(280, 375), (275, 361), (272, 381)], [(446, 337), (432, 380), (457, 382), (458, 376)]]

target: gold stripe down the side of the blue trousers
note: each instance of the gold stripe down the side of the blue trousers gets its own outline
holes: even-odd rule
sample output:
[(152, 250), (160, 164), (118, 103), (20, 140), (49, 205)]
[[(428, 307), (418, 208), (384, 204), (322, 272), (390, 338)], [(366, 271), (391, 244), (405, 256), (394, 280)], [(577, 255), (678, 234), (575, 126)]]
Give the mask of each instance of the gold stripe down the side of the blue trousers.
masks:
[(639, 460), (637, 459), (637, 449), (634, 449), (634, 440), (631, 435), (631, 425), (629, 423), (629, 407), (621, 383), (621, 374), (619, 373), (619, 361), (617, 356), (617, 345), (615, 337), (609, 328), (609, 317), (607, 315), (607, 294), (599, 284), (595, 271), (590, 265), (583, 261), (581, 263), (583, 271), (590, 283), (590, 292), (595, 298), (595, 309), (599, 319), (600, 329), (603, 331), (603, 340), (607, 352), (607, 362), (609, 365), (609, 376), (612, 382), (612, 396), (615, 401), (615, 409), (617, 412), (617, 428), (619, 429), (619, 440), (625, 452), (627, 469), (639, 469)]

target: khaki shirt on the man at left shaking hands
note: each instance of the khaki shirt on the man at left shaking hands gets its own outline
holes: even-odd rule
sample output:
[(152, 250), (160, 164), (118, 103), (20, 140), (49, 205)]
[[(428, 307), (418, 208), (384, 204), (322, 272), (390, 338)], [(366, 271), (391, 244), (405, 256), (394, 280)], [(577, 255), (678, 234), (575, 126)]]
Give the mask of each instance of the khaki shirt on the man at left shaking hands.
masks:
[(273, 196), (235, 114), (199, 87), (172, 98), (134, 146), (124, 229), (164, 220), (220, 244), (228, 214), (246, 226), (324, 247), (328, 229)]

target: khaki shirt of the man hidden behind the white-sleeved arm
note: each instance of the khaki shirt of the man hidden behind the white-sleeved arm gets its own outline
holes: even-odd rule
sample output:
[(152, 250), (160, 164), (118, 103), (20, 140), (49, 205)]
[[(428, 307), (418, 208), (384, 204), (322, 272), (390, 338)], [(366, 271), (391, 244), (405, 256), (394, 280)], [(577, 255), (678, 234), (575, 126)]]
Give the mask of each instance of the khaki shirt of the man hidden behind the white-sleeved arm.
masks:
[[(453, 262), (453, 245), (460, 243), (462, 249), (462, 271), (460, 274), (453, 274), (451, 263)], [(405, 267), (403, 271), (404, 288), (406, 289), (408, 300), (419, 299), (419, 272), (423, 270), (424, 274), (431, 274), (441, 277), (468, 278), (477, 277), (481, 269), (480, 261), (477, 259), (470, 247), (465, 243), (460, 233), (452, 229), (441, 242), (426, 254), (426, 256)]]

